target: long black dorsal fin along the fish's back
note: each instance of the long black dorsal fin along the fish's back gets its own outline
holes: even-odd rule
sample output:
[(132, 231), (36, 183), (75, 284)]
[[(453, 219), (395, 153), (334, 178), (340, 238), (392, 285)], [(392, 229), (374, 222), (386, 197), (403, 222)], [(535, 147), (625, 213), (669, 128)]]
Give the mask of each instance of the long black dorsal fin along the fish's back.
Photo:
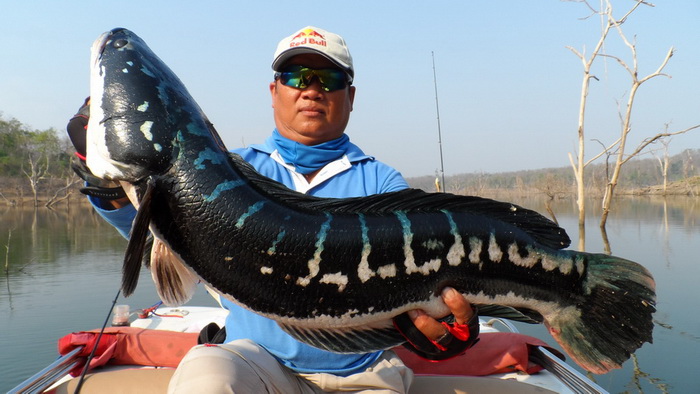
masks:
[(419, 189), (375, 194), (361, 198), (318, 198), (293, 191), (286, 186), (260, 175), (250, 164), (235, 153), (229, 154), (233, 166), (248, 178), (251, 186), (272, 199), (314, 212), (387, 214), (395, 211), (466, 212), (483, 215), (518, 227), (535, 241), (553, 249), (571, 245), (566, 231), (541, 214), (518, 205), (476, 196), (450, 193), (427, 193)]

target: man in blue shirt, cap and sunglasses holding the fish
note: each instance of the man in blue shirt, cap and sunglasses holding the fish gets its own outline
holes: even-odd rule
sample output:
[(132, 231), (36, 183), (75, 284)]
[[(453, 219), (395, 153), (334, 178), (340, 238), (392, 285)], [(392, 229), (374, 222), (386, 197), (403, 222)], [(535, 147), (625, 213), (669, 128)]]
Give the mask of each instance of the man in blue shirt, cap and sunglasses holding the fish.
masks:
[[(396, 170), (364, 154), (345, 134), (355, 87), (352, 57), (342, 37), (311, 26), (301, 29), (279, 43), (272, 69), (276, 129), (264, 144), (235, 153), (262, 175), (319, 197), (358, 197), (408, 187)], [(90, 199), (107, 221), (128, 234), (135, 214), (130, 204), (123, 206), (119, 198)], [(474, 315), (469, 303), (451, 289), (443, 298), (456, 326), (466, 326)], [(225, 343), (193, 348), (175, 372), (169, 392), (408, 390), (412, 372), (391, 351), (323, 351), (293, 339), (270, 319), (223, 298), (221, 302), (229, 310)], [(443, 341), (453, 339), (449, 327), (422, 311), (408, 315), (424, 338), (446, 350)]]

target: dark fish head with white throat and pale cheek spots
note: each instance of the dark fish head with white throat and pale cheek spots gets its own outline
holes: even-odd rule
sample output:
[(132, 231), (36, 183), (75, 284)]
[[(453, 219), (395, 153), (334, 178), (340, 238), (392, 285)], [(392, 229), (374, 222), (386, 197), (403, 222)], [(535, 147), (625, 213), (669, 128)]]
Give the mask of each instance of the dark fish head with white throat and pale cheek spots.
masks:
[(192, 127), (198, 119), (192, 113), (201, 112), (185, 86), (127, 29), (103, 33), (90, 61), (90, 170), (132, 183), (167, 171), (177, 155), (178, 132)]

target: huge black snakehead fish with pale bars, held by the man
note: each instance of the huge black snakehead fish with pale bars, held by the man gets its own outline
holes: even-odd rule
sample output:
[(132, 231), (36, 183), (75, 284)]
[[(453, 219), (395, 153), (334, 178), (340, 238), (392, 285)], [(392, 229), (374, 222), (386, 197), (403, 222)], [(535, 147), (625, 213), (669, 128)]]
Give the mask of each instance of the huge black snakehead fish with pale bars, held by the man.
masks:
[(129, 30), (93, 44), (90, 95), (88, 166), (130, 186), (138, 206), (125, 295), (150, 248), (166, 303), (187, 301), (201, 280), (335, 352), (401, 344), (392, 318), (448, 314), (446, 286), (473, 304), (537, 316), (595, 373), (652, 341), (654, 280), (641, 265), (564, 250), (563, 229), (510, 203), (415, 189), (346, 199), (291, 191), (229, 154), (178, 77)]

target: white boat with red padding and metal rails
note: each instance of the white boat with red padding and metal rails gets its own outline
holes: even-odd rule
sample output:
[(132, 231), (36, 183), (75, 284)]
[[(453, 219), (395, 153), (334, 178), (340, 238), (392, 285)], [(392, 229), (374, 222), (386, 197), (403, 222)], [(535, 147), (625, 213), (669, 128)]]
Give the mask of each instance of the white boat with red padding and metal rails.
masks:
[[(104, 333), (92, 330), (61, 338), (62, 355), (9, 393), (72, 394), (78, 386), (83, 394), (164, 393), (177, 362), (197, 343), (202, 329), (211, 323), (223, 326), (227, 313), (216, 306), (164, 307), (160, 303), (136, 311), (129, 311), (126, 305), (114, 310), (112, 327)], [(438, 363), (395, 348), (415, 373), (409, 393), (606, 393), (568, 365), (561, 353), (539, 339), (519, 334), (509, 321), (480, 316), (480, 330), (480, 341), (469, 351)], [(101, 345), (87, 344), (94, 340)], [(126, 345), (129, 341), (136, 345)], [(502, 346), (504, 343), (509, 347)], [(93, 347), (98, 351), (81, 383), (81, 376), (76, 375)], [(168, 351), (161, 351), (163, 347)], [(112, 354), (105, 356), (109, 352)], [(103, 365), (94, 367), (99, 364)], [(476, 370), (470, 365), (476, 365)]]

